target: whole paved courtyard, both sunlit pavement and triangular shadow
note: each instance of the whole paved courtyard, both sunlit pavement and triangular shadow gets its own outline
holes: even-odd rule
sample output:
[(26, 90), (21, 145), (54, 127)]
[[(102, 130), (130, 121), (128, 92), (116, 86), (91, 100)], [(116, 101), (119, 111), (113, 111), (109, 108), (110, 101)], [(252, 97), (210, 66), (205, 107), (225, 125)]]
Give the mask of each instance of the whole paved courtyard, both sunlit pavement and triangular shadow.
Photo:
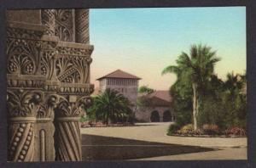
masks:
[(245, 137), (172, 137), (169, 125), (82, 128), (84, 160), (247, 160)]

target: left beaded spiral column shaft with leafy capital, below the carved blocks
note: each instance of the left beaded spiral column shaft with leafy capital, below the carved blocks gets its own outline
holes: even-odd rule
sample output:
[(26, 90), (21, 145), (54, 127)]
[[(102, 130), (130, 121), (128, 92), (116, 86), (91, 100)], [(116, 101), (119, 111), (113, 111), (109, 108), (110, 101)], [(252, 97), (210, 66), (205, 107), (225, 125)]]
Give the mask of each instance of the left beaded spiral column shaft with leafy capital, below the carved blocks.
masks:
[(41, 92), (8, 91), (9, 161), (34, 161), (34, 126), (41, 98)]

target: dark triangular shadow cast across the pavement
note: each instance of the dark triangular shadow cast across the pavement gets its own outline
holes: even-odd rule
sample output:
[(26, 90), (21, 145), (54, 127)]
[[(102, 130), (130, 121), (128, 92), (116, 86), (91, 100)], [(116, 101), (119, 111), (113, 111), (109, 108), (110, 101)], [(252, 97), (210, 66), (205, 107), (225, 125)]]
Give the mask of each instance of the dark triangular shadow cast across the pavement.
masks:
[(135, 160), (212, 151), (213, 148), (154, 143), (119, 137), (82, 135), (83, 160)]

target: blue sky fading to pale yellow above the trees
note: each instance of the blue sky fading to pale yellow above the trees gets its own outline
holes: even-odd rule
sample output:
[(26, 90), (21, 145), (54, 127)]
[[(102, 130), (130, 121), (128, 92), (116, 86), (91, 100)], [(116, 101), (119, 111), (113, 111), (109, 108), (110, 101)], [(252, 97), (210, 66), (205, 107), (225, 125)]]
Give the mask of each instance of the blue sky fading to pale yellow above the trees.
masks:
[(90, 9), (90, 44), (94, 45), (90, 80), (114, 70), (139, 76), (139, 86), (168, 90), (174, 74), (161, 76), (192, 44), (206, 44), (221, 58), (218, 77), (246, 70), (246, 8)]

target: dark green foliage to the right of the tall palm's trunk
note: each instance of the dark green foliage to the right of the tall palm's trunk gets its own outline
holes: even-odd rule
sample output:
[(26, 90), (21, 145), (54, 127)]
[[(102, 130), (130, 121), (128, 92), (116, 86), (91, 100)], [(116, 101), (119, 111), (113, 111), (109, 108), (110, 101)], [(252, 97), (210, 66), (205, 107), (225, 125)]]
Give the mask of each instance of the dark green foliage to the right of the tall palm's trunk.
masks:
[[(246, 85), (242, 75), (228, 74), (227, 80), (220, 83), (219, 87), (208, 88), (201, 104), (199, 115), (200, 126), (216, 124), (221, 129), (230, 126), (246, 127), (247, 96), (242, 89)], [(210, 83), (211, 84), (211, 83)], [(212, 92), (214, 91), (214, 92)]]

